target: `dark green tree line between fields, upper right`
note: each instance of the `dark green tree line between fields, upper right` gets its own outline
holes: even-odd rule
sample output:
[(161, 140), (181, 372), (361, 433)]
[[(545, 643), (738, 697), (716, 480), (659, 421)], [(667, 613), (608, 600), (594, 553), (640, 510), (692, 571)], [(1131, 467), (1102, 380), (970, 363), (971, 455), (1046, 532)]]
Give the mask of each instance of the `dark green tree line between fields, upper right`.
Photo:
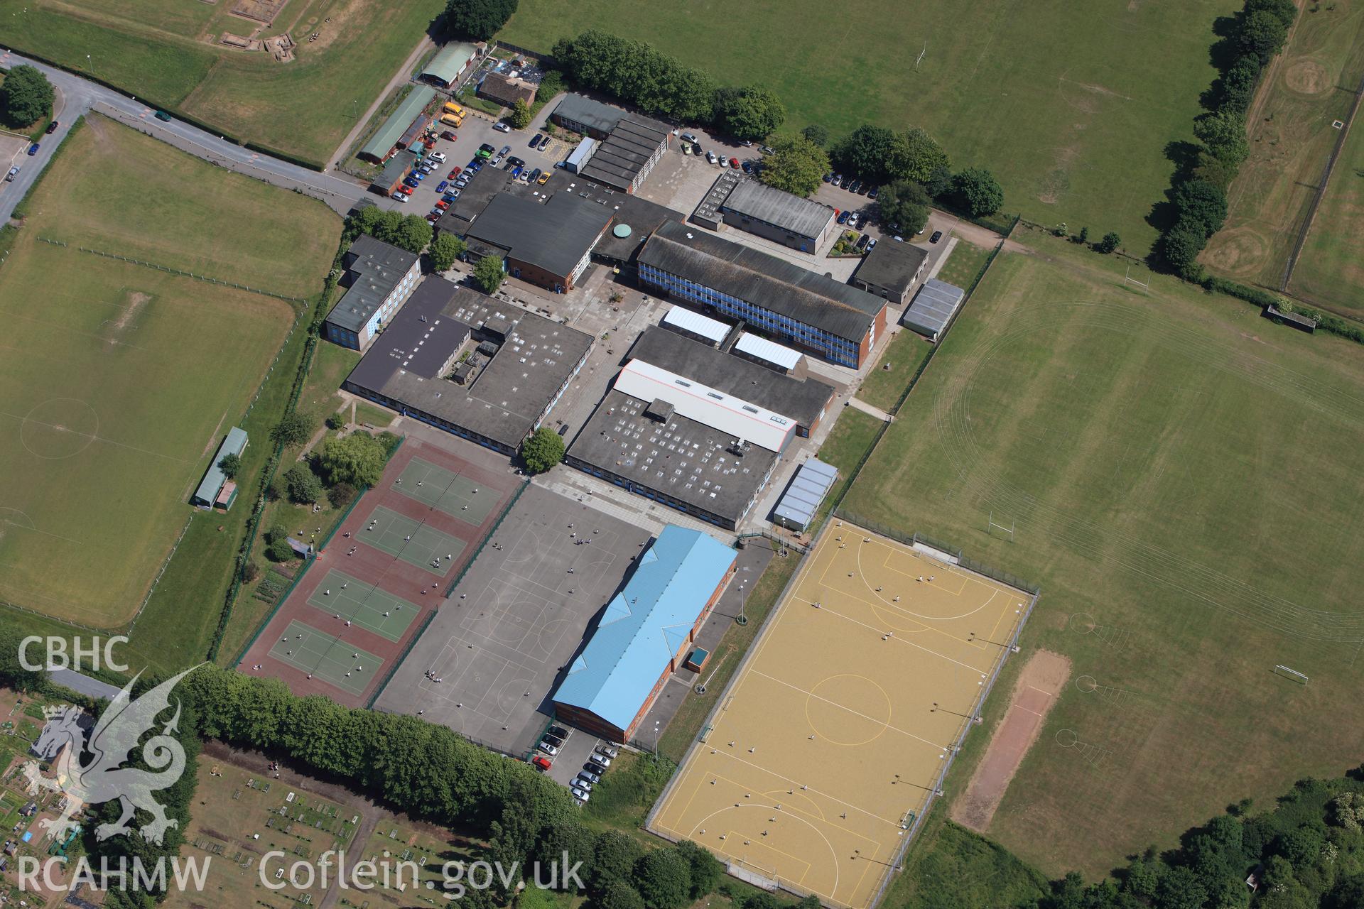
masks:
[(1158, 244), (1163, 262), (1187, 281), (1207, 279), (1198, 256), (1226, 221), (1226, 189), (1251, 153), (1247, 112), (1296, 18), (1293, 0), (1245, 0), (1226, 37), (1213, 48), (1221, 75), (1204, 95), (1209, 110), (1194, 121), (1199, 147), (1174, 174), (1173, 217)]

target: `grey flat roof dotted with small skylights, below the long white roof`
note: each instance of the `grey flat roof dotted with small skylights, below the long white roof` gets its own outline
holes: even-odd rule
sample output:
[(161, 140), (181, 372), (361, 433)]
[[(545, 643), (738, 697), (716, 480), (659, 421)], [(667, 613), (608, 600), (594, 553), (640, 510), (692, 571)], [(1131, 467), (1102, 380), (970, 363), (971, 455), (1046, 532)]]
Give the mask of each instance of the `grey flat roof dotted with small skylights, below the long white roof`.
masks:
[(762, 488), (776, 452), (749, 446), (738, 458), (726, 451), (734, 436), (677, 413), (657, 422), (644, 416), (651, 403), (611, 388), (569, 455), (738, 522)]

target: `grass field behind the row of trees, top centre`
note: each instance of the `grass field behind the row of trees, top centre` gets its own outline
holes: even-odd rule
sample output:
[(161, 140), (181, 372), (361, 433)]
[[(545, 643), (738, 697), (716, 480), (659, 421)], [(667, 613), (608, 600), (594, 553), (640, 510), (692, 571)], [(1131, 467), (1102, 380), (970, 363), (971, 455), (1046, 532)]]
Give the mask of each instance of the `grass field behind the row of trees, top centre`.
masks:
[(1165, 146), (1191, 138), (1199, 94), (1215, 76), (1213, 20), (1237, 8), (524, 0), (499, 37), (544, 50), (587, 27), (647, 40), (720, 82), (771, 86), (788, 129), (923, 127), (955, 165), (998, 174), (1007, 211), (1088, 225), (1095, 236), (1117, 230), (1140, 252), (1155, 240), (1144, 218), (1173, 170)]

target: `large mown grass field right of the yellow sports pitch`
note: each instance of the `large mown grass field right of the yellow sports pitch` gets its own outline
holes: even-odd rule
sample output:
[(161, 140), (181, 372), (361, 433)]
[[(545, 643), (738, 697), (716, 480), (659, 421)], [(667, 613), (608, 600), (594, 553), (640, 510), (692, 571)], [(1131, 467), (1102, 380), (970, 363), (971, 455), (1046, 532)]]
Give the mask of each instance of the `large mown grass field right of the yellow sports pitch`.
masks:
[[(1090, 680), (1064, 688), (990, 835), (1048, 872), (1103, 874), (1229, 801), (1359, 763), (1364, 361), (1020, 240), (1033, 255), (996, 259), (844, 504), (1041, 585), (1024, 651)], [(992, 512), (1012, 541), (986, 533)]]

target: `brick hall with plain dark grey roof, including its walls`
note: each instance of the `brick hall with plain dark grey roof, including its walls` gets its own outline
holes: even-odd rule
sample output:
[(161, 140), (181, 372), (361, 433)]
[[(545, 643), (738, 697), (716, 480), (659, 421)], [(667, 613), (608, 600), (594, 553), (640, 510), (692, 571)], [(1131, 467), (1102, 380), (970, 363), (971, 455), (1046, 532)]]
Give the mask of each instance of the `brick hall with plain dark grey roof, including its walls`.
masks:
[(611, 217), (610, 209), (565, 192), (548, 202), (503, 192), (468, 228), (465, 240), (475, 255), (501, 251), (513, 278), (563, 293), (587, 270)]

